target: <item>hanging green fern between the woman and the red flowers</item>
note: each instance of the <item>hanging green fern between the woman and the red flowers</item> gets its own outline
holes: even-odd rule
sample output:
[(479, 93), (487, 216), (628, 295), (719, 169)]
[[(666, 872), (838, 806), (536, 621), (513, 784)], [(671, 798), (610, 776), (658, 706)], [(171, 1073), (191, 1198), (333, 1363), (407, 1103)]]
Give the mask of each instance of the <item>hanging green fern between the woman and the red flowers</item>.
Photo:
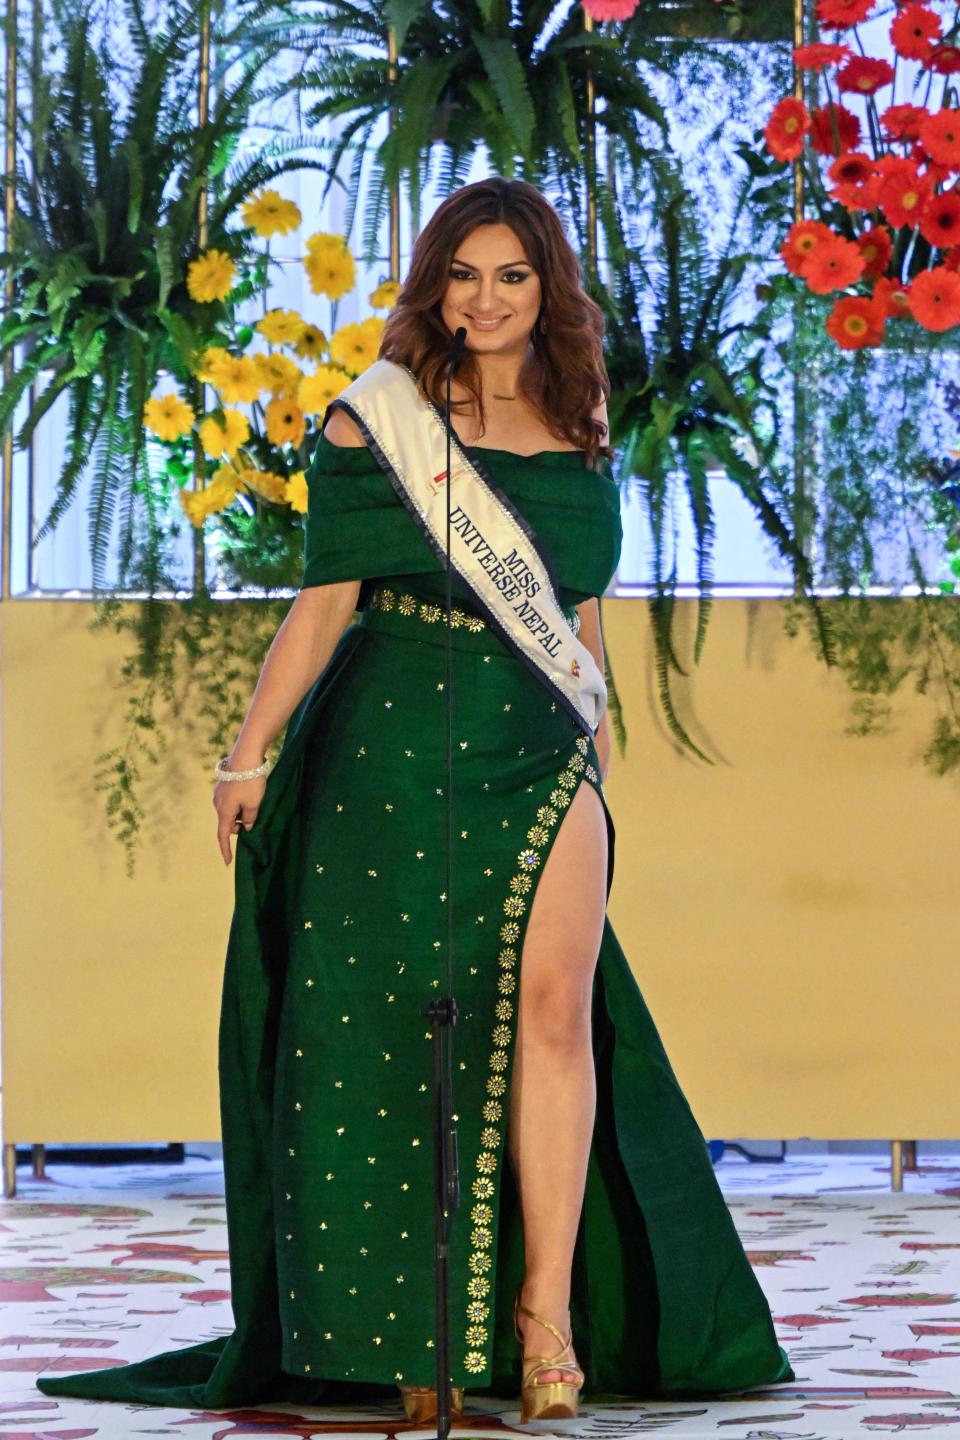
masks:
[(812, 592), (812, 567), (797, 536), (792, 481), (783, 468), (782, 393), (769, 379), (776, 297), (743, 318), (744, 275), (761, 256), (737, 251), (734, 238), (740, 212), (756, 187), (757, 177), (747, 171), (727, 246), (714, 258), (692, 197), (676, 168), (665, 163), (658, 209), (646, 217), (656, 226), (655, 239), (648, 232), (640, 251), (623, 236), (612, 256), (616, 289), (604, 300), (617, 477), (639, 492), (651, 527), (651, 619), (661, 706), (671, 733), (710, 763), (682, 724), (672, 688), (674, 677), (688, 674), (675, 638), (678, 554), (672, 517), (682, 500), (694, 521), (694, 661), (699, 662), (714, 583), (708, 471), (723, 468), (751, 507), (760, 530), (792, 569), (823, 658), (828, 664), (833, 660), (826, 618)]

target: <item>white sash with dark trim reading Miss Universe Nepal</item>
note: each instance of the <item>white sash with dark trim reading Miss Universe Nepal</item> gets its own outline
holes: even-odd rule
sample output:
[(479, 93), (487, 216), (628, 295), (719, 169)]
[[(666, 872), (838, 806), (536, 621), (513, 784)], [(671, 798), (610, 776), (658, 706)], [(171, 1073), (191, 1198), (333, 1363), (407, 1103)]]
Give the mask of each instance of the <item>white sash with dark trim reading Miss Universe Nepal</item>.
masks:
[[(327, 406), (343, 406), (446, 566), (446, 426), (407, 366), (374, 360)], [(570, 629), (537, 536), (502, 491), (450, 439), (450, 566), (507, 645), (594, 736), (607, 691)]]

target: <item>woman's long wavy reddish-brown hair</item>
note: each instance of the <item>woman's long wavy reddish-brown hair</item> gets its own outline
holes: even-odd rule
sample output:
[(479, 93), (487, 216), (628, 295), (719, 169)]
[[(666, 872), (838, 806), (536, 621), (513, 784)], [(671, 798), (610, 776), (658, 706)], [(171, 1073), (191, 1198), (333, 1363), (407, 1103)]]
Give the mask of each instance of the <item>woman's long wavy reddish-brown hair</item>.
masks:
[[(379, 359), (406, 364), (420, 390), (443, 409), (452, 343), (440, 315), (458, 246), (478, 225), (508, 225), (540, 276), (541, 310), (531, 331), (533, 353), (518, 377), (518, 393), (558, 439), (590, 458), (613, 458), (607, 426), (593, 418), (610, 393), (603, 363), (603, 311), (580, 284), (580, 261), (551, 203), (527, 180), (489, 176), (453, 190), (433, 212), (413, 245), (410, 269), (380, 337)], [(540, 320), (545, 331), (540, 328)], [(474, 396), (485, 429), (482, 380), (472, 350), (463, 350), (458, 380)], [(469, 406), (453, 400), (452, 409)]]

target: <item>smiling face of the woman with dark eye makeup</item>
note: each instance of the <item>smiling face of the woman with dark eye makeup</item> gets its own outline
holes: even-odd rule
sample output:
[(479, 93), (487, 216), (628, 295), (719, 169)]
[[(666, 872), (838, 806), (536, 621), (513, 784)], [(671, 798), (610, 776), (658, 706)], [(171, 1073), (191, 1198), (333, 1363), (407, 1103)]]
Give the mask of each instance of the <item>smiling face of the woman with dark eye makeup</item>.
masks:
[(466, 327), (469, 350), (522, 356), (540, 301), (540, 276), (517, 233), (508, 225), (478, 225), (453, 252), (440, 315), (450, 334)]

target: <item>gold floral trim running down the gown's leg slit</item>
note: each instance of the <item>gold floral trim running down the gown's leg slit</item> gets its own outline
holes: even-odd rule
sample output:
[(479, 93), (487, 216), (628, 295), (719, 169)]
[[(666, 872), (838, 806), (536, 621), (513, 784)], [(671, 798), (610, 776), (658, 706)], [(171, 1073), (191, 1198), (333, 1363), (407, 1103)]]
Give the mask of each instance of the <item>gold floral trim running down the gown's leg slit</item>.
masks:
[(471, 1375), (479, 1375), (488, 1365), (488, 1355), (482, 1349), (489, 1339), (489, 1331), (485, 1323), (489, 1319), (489, 1305), (486, 1303), (486, 1296), (489, 1295), (489, 1280), (486, 1277), (486, 1270), (489, 1270), (492, 1264), (489, 1248), (494, 1240), (492, 1230), (489, 1228), (494, 1218), (494, 1207), (488, 1204), (488, 1201), (497, 1194), (495, 1176), (498, 1168), (498, 1146), (501, 1140), (501, 1133), (494, 1128), (492, 1122), (499, 1122), (502, 1119), (504, 1107), (499, 1097), (507, 1093), (507, 1070), (510, 1067), (510, 1043), (512, 1037), (512, 1027), (510, 1021), (514, 1018), (514, 1002), (507, 996), (512, 995), (517, 988), (517, 976), (514, 971), (518, 956), (514, 946), (520, 939), (520, 924), (514, 917), (524, 914), (527, 909), (527, 901), (522, 900), (521, 896), (527, 894), (531, 888), (531, 874), (540, 868), (543, 858), (540, 850), (550, 840), (550, 827), (556, 825), (560, 819), (560, 811), (566, 809), (570, 804), (570, 792), (577, 786), (577, 775), (584, 769), (584, 766), (587, 775), (594, 769), (586, 762), (589, 746), (590, 742), (586, 736), (577, 737), (573, 756), (557, 776), (557, 788), (550, 796), (550, 805), (538, 806), (537, 824), (531, 825), (527, 831), (530, 848), (521, 850), (517, 855), (517, 874), (511, 878), (511, 893), (504, 900), (504, 913), (511, 919), (505, 920), (499, 927), (499, 939), (504, 943), (498, 956), (499, 976), (497, 981), (497, 989), (501, 998), (494, 1007), (497, 1024), (491, 1032), (494, 1050), (489, 1056), (489, 1074), (486, 1077), (485, 1087), (489, 1099), (484, 1102), (481, 1110), (481, 1115), (488, 1125), (481, 1132), (482, 1149), (476, 1156), (476, 1169), (479, 1174), (471, 1187), (476, 1204), (471, 1210), (471, 1220), (475, 1228), (471, 1233), (472, 1250), (466, 1261), (471, 1276), (466, 1282), (468, 1323), (465, 1339), (468, 1351), (463, 1356), (463, 1368)]

